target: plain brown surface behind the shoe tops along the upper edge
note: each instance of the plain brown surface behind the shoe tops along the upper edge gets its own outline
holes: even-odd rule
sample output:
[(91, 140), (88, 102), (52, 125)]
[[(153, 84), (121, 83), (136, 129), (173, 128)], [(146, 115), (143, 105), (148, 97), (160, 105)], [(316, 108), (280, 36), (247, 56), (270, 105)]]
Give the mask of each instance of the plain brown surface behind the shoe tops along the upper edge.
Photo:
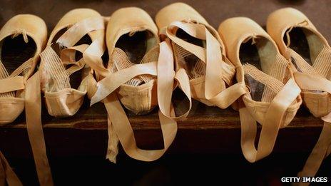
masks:
[[(103, 16), (110, 16), (116, 9), (127, 6), (138, 6), (146, 10), (154, 19), (156, 13), (163, 6), (173, 2), (176, 1), (1, 0), (0, 26), (16, 14), (36, 14), (44, 19), (49, 27), (49, 31), (51, 31), (57, 21), (61, 19), (61, 16), (75, 8), (91, 8)], [(261, 26), (265, 26), (265, 21), (272, 11), (290, 6), (306, 14), (327, 40), (330, 41), (331, 39), (331, 1), (329, 0), (195, 0), (182, 2), (193, 6), (215, 29), (218, 28), (221, 21), (233, 16), (248, 16)]]

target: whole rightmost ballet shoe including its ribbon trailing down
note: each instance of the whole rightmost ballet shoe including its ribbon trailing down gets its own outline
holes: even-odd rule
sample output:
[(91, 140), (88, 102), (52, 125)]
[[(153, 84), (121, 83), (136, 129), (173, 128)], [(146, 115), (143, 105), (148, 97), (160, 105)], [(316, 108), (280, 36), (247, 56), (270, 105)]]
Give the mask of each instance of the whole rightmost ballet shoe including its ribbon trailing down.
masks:
[(314, 177), (331, 152), (331, 48), (305, 14), (296, 9), (274, 11), (268, 17), (267, 30), (282, 55), (292, 61), (303, 103), (312, 115), (325, 121), (320, 138), (299, 173)]

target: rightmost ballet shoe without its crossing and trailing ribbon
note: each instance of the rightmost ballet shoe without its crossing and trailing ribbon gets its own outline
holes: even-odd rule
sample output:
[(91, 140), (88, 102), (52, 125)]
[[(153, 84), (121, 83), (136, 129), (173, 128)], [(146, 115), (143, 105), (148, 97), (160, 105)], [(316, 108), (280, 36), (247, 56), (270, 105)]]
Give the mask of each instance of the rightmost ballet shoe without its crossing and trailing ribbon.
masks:
[[(302, 12), (292, 8), (273, 12), (268, 17), (267, 30), (297, 72), (330, 81), (331, 48)], [(297, 83), (300, 86), (300, 81)], [(303, 103), (312, 115), (320, 118), (330, 113), (330, 93), (321, 89), (302, 89), (306, 89), (302, 90)]]

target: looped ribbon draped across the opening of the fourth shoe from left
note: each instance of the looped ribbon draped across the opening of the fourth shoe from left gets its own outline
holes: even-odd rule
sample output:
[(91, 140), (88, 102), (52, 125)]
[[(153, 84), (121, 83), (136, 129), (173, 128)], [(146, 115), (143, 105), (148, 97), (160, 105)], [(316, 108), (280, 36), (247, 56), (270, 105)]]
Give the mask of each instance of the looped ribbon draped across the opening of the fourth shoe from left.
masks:
[[(178, 38), (175, 35), (175, 31), (178, 29), (182, 29), (190, 36), (204, 40), (206, 42), (206, 48)], [(205, 74), (205, 87), (203, 95), (205, 95), (205, 99), (210, 103), (220, 108), (227, 108), (241, 95), (247, 93), (247, 88), (241, 84), (235, 85), (228, 91), (225, 91), (227, 89), (225, 83), (230, 85), (235, 75), (235, 67), (231, 63), (228, 64), (223, 61), (220, 43), (205, 25), (175, 21), (168, 26), (165, 33), (170, 41), (173, 41), (173, 43), (192, 53), (205, 63), (205, 72), (203, 72)], [(226, 97), (227, 95), (231, 95), (231, 98), (228, 99)]]

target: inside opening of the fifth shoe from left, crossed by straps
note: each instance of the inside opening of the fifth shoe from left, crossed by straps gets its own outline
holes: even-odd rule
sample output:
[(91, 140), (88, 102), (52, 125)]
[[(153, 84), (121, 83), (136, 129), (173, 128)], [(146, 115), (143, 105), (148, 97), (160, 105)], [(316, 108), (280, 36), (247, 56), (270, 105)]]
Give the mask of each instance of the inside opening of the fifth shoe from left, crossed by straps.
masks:
[(275, 46), (267, 38), (250, 38), (241, 44), (239, 52), (252, 99), (272, 101), (283, 85), (285, 58), (277, 55)]

